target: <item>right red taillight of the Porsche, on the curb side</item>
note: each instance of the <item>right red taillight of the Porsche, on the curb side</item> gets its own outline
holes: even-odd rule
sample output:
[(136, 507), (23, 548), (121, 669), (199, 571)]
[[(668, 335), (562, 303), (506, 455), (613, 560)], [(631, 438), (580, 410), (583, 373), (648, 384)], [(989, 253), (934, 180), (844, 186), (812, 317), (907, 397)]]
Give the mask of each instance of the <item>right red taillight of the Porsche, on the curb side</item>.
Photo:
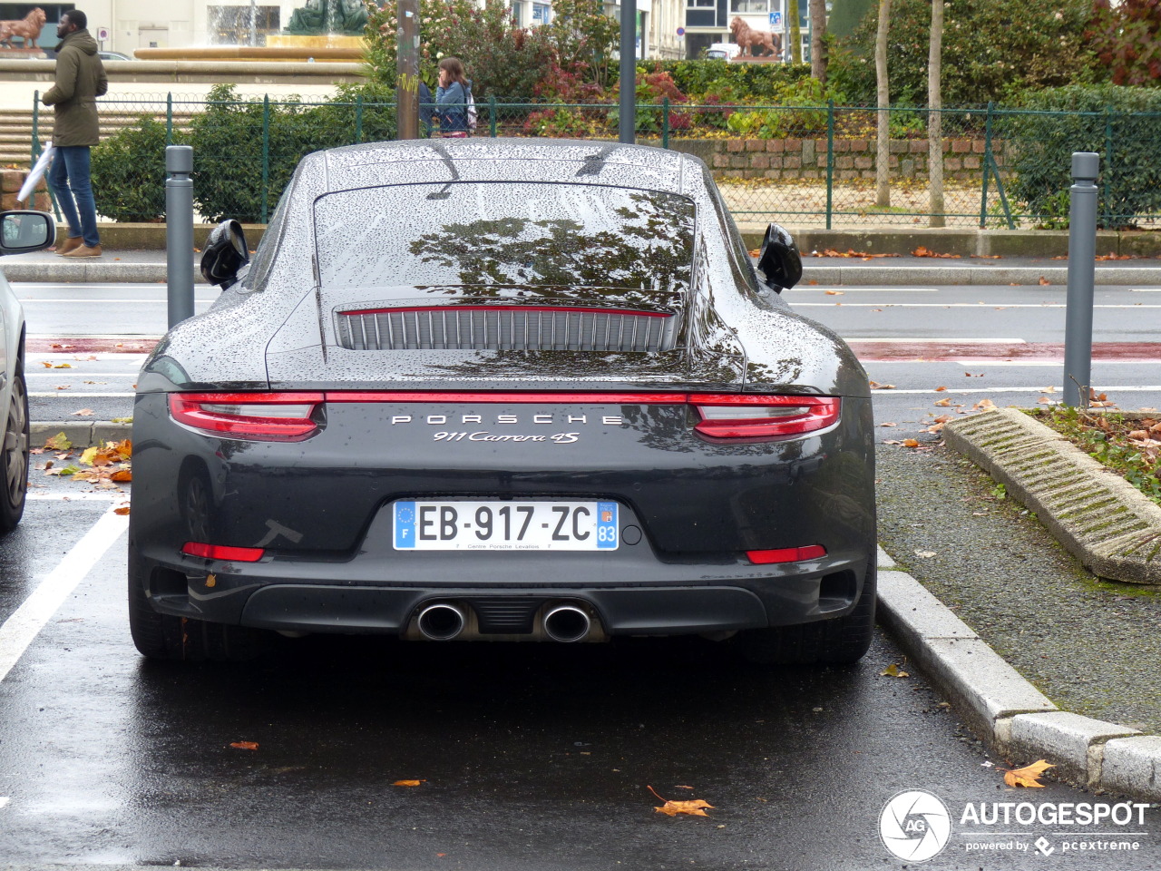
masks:
[(701, 420), (693, 429), (714, 439), (788, 439), (834, 426), (837, 396), (691, 394)]

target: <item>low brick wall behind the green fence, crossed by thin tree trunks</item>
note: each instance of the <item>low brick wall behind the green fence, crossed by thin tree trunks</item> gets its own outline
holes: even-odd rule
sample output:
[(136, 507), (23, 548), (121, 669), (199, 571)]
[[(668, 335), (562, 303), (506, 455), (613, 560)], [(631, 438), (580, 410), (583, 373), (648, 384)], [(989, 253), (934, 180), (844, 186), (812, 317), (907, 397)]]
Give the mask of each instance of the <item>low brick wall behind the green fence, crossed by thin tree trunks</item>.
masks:
[[(697, 149), (691, 141), (671, 139), (670, 146), (697, 153), (717, 179), (817, 180), (827, 178), (827, 139), (708, 139)], [(944, 179), (980, 182), (983, 139), (944, 141)], [(1003, 144), (993, 141), (1001, 166)], [(874, 180), (874, 139), (835, 139), (835, 180)], [(895, 178), (926, 179), (928, 141), (892, 139), (890, 172)]]

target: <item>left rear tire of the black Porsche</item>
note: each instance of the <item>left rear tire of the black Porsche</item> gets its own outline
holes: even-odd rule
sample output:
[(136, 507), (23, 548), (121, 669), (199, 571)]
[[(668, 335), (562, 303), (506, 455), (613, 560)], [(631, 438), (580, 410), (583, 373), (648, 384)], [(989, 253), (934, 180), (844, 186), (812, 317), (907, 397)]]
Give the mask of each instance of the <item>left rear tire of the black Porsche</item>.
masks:
[(154, 611), (145, 595), (142, 561), (132, 545), (129, 546), (129, 633), (143, 656), (181, 662), (248, 662), (267, 653), (274, 640), (264, 629)]

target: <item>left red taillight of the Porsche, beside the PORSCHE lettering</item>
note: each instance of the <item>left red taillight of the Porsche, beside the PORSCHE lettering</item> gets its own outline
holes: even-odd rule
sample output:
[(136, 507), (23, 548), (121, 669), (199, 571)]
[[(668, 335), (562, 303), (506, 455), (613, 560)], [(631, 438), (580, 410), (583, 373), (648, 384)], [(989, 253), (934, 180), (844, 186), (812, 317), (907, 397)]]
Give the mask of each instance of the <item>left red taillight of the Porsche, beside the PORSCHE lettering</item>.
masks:
[(202, 432), (257, 441), (300, 441), (318, 431), (323, 394), (170, 394), (170, 415)]

